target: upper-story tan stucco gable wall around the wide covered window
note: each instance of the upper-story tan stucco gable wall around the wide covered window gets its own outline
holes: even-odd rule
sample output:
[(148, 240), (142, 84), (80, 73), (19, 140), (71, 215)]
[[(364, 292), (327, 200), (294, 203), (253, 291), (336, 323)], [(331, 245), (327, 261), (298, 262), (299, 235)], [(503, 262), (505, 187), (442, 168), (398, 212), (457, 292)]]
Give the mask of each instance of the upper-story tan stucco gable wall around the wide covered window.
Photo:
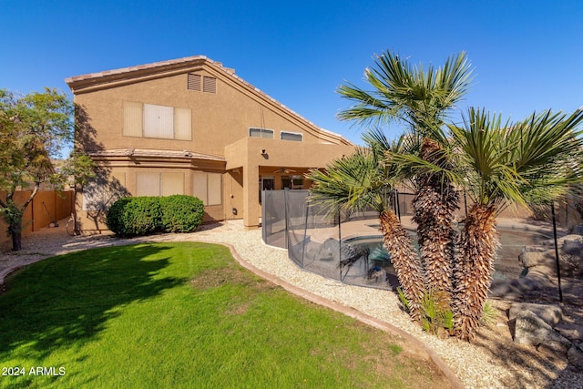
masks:
[[(198, 72), (201, 73), (201, 72)], [(202, 72), (206, 74), (206, 72)], [(75, 101), (87, 110), (103, 148), (166, 148), (223, 155), (225, 146), (249, 137), (249, 128), (269, 128), (279, 139), (281, 131), (303, 133), (303, 143), (317, 143), (306, 126), (280, 109), (265, 107), (244, 90), (217, 79), (217, 93), (187, 89), (187, 74), (159, 78), (122, 87), (80, 94)], [(192, 140), (124, 137), (123, 102), (135, 101), (192, 111)]]

